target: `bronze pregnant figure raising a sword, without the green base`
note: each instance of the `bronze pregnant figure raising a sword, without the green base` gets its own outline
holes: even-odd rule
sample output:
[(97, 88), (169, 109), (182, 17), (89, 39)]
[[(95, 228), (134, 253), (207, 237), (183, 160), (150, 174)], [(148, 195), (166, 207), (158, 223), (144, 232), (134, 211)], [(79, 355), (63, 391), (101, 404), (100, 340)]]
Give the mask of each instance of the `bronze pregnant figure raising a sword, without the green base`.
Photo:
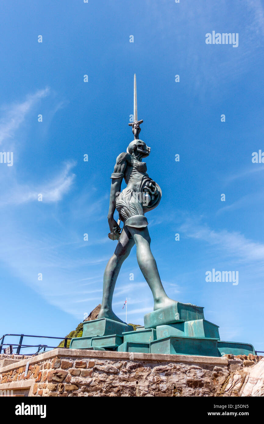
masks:
[[(150, 250), (150, 235), (147, 229), (145, 212), (156, 208), (161, 200), (161, 188), (147, 174), (146, 162), (142, 159), (150, 154), (150, 147), (138, 139), (140, 123), (137, 120), (136, 74), (134, 75), (134, 140), (127, 151), (117, 156), (114, 173), (111, 175), (111, 192), (108, 211), (108, 224), (112, 240), (119, 240), (113, 256), (106, 265), (103, 277), (103, 300), (98, 318), (121, 321), (112, 310), (112, 298), (120, 268), (136, 244), (136, 257), (154, 298), (154, 310), (176, 302), (170, 299), (162, 286), (156, 260)], [(120, 193), (122, 180), (127, 187)], [(124, 223), (120, 234), (119, 224), (114, 220), (114, 211), (119, 212), (119, 220)], [(121, 321), (122, 322), (122, 321)]]

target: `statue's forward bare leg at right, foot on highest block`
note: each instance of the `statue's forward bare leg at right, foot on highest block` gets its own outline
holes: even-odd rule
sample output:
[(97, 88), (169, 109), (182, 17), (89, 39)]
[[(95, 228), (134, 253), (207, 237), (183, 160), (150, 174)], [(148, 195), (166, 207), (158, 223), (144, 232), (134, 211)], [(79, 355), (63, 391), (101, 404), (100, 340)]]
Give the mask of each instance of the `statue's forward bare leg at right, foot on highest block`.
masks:
[(136, 257), (139, 268), (153, 294), (154, 311), (176, 303), (175, 300), (167, 296), (161, 283), (156, 260), (150, 250), (150, 234), (147, 227), (133, 228), (129, 226), (128, 228), (136, 243)]

